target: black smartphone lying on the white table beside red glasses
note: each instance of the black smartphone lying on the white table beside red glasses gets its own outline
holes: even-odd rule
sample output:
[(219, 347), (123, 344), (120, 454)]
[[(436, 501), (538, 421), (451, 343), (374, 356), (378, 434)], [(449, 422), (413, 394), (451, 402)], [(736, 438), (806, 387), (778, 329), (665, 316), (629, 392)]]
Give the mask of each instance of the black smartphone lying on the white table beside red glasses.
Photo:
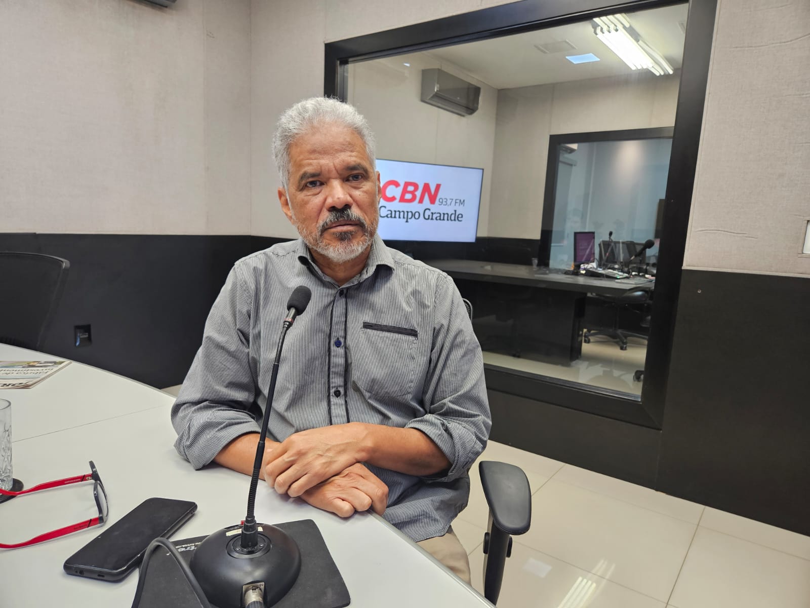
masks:
[(65, 572), (92, 579), (121, 580), (138, 567), (157, 537), (168, 537), (185, 524), (197, 503), (147, 499), (66, 559)]

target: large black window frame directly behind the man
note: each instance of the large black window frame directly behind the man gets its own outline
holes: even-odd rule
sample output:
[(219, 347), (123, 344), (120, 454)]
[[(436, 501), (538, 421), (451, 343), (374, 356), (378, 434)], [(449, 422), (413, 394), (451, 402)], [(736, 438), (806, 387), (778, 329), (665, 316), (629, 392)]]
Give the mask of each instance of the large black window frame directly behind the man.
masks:
[[(329, 42), (324, 46), (324, 94), (347, 100), (349, 63), (509, 36), (619, 12), (642, 11), (682, 3), (684, 2), (673, 0), (523, 0)], [(650, 324), (641, 400), (620, 396), (620, 393), (599, 387), (546, 377), (532, 378), (517, 370), (486, 366), (487, 383), (491, 390), (653, 429), (662, 428), (676, 307), (706, 101), (714, 19), (717, 13), (717, 0), (689, 0), (687, 3), (689, 17), (676, 120), (672, 130), (672, 152), (661, 234), (662, 246), (666, 247), (667, 255), (662, 256), (657, 268), (656, 308)], [(672, 176), (677, 178), (673, 179)]]

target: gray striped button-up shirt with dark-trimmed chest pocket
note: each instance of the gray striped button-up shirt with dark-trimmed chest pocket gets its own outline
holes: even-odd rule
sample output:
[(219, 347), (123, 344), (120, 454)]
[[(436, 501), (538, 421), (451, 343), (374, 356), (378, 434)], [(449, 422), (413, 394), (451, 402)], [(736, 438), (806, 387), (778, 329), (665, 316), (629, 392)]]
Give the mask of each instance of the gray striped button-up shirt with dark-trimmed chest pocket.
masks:
[(363, 271), (342, 286), (300, 239), (234, 265), (172, 408), (177, 452), (199, 469), (232, 439), (258, 432), (297, 285), (312, 300), (284, 344), (270, 435), (283, 441), (345, 422), (421, 430), (450, 469), (414, 477), (368, 466), (389, 488), (386, 520), (415, 541), (441, 536), (467, 505), (467, 469), (489, 435), (484, 363), (450, 277), (378, 236)]

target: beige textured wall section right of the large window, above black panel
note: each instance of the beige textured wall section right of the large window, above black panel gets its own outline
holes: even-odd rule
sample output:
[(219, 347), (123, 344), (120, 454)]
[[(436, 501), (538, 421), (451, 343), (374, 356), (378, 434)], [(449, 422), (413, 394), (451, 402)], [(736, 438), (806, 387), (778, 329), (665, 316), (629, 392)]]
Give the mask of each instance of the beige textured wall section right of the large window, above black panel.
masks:
[(685, 268), (810, 276), (808, 63), (810, 2), (719, 2)]

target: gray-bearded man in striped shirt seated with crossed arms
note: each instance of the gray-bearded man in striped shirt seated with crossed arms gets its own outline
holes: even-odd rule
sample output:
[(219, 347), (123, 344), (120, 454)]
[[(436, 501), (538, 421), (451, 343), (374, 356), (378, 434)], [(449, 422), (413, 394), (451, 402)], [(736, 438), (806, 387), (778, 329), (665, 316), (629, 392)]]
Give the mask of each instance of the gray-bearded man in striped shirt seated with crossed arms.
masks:
[[(239, 260), (211, 308), (172, 422), (177, 452), (262, 477), (347, 517), (369, 508), (469, 582), (450, 523), (491, 426), (478, 340), (453, 281), (377, 236), (374, 139), (351, 105), (313, 97), (274, 139), (279, 202), (301, 234)], [(271, 366), (285, 302), (312, 291)]]

